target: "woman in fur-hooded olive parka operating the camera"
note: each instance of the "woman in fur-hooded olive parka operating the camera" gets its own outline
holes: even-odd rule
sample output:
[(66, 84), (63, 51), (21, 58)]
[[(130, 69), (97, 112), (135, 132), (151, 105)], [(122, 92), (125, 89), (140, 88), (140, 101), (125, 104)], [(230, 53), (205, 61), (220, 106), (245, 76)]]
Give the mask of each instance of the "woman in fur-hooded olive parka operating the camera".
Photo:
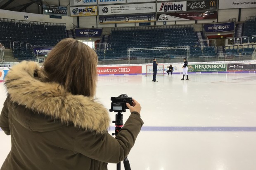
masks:
[(143, 124), (140, 104), (127, 104), (131, 114), (114, 138), (108, 110), (94, 99), (96, 83), (97, 54), (71, 38), (50, 51), (42, 68), (14, 65), (0, 115), (12, 147), (1, 170), (107, 170), (107, 163), (123, 161)]

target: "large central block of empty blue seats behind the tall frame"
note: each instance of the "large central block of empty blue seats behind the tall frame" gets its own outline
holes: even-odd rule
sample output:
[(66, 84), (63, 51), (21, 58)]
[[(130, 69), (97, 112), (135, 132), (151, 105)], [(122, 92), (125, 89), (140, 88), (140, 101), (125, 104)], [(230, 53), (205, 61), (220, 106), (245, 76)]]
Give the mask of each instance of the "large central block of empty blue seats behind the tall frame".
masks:
[[(197, 37), (193, 27), (112, 30), (110, 36), (112, 50), (105, 53), (105, 58), (126, 58), (128, 48), (180, 46), (190, 46), (190, 54), (201, 54), (201, 56), (203, 56), (201, 47), (192, 48), (196, 45), (196, 42)], [(185, 56), (186, 53), (185, 49), (175, 49), (172, 51), (141, 50), (131, 51), (130, 56), (135, 58), (163, 58)], [(102, 58), (102, 53), (98, 52), (98, 54), (99, 58)]]

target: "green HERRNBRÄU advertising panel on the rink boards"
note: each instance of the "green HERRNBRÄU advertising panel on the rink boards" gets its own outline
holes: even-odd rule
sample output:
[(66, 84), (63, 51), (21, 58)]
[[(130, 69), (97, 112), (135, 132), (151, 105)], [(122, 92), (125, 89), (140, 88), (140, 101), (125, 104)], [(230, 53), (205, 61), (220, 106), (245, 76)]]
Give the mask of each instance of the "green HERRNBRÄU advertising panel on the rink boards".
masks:
[(226, 72), (227, 64), (192, 64), (187, 67), (188, 72)]

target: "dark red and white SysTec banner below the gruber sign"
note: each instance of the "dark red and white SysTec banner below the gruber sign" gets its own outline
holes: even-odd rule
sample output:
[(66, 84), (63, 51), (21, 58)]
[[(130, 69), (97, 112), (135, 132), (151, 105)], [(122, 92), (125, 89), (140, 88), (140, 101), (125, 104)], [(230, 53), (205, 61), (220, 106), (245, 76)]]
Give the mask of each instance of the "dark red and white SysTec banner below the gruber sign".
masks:
[(217, 11), (158, 14), (157, 21), (217, 19)]

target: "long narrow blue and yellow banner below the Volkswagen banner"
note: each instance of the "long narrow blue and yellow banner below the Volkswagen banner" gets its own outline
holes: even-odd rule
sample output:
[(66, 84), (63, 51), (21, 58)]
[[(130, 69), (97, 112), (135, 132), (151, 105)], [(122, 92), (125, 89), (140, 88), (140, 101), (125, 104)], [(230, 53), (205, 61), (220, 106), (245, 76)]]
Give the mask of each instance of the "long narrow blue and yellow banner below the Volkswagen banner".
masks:
[(99, 16), (100, 23), (135, 23), (154, 22), (155, 14), (121, 15), (121, 16)]

